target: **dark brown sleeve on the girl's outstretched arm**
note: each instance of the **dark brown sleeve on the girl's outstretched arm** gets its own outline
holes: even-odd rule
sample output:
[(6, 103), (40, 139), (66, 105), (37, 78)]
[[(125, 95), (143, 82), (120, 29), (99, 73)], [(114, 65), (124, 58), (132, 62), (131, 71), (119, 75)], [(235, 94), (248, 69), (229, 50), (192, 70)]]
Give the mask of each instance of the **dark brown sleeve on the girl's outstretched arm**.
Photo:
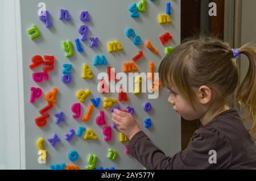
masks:
[(187, 149), (173, 157), (167, 157), (143, 131), (131, 138), (128, 152), (150, 170), (228, 169), (233, 155), (228, 137), (210, 127), (198, 129), (193, 134)]

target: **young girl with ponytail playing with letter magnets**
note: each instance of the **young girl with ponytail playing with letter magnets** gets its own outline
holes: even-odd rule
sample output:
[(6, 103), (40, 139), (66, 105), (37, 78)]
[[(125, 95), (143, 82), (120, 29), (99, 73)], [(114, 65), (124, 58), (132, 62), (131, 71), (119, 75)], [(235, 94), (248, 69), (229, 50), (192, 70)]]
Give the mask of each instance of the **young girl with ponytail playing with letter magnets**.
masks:
[(128, 152), (146, 169), (256, 169), (256, 145), (240, 113), (229, 108), (227, 98), (238, 85), (240, 54), (247, 56), (248, 73), (237, 92), (237, 101), (253, 120), (256, 131), (256, 48), (230, 49), (214, 37), (199, 37), (177, 46), (159, 66), (168, 102), (186, 120), (200, 119), (187, 149), (166, 156), (141, 131), (130, 113), (117, 109), (113, 123), (129, 138)]

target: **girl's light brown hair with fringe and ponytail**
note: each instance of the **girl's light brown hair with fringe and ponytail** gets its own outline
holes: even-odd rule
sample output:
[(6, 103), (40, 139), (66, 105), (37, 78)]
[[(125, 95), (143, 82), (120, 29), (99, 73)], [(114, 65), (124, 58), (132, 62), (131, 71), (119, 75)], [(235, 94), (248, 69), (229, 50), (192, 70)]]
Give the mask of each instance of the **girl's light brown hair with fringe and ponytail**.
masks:
[[(237, 102), (248, 111), (246, 119), (253, 120), (251, 130), (256, 132), (256, 48), (246, 44), (238, 49), (249, 59), (249, 70), (237, 92)], [(214, 36), (186, 39), (174, 48), (160, 63), (159, 78), (163, 87), (175, 86), (195, 109), (196, 96), (193, 88), (209, 86), (218, 105), (238, 85), (238, 63), (228, 43)]]

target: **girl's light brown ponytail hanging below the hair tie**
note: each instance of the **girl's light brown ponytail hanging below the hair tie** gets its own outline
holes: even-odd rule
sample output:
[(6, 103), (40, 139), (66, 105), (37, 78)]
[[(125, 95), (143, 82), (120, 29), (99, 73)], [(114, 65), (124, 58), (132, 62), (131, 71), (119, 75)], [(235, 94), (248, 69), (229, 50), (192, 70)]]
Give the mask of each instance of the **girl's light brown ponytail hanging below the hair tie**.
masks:
[(256, 48), (246, 44), (239, 49), (239, 52), (245, 54), (249, 59), (249, 69), (238, 89), (237, 102), (243, 107), (242, 113), (248, 111), (243, 120), (251, 119), (253, 121), (253, 126), (249, 131), (253, 131), (256, 136)]

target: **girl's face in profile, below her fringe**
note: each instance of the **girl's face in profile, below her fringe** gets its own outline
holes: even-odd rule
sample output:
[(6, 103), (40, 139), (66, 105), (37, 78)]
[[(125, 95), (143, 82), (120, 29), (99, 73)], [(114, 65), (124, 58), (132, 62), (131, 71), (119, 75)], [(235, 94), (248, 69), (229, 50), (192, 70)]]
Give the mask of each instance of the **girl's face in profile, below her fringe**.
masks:
[(181, 117), (185, 120), (196, 120), (199, 119), (202, 115), (202, 112), (196, 111), (200, 108), (194, 110), (193, 107), (181, 96), (179, 91), (173, 87), (169, 88), (170, 95), (168, 97), (168, 102), (171, 103), (174, 107), (174, 110), (179, 113)]

